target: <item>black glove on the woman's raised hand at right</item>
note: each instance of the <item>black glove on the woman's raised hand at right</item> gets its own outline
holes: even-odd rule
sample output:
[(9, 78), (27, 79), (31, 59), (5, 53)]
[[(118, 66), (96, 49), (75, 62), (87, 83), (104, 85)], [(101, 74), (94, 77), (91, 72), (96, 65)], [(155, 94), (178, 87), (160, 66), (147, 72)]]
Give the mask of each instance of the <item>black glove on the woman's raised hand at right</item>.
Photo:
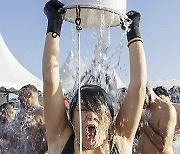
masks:
[(134, 38), (141, 38), (141, 34), (139, 31), (139, 22), (141, 15), (139, 12), (136, 11), (129, 11), (127, 14), (129, 19), (132, 20), (132, 23), (129, 25), (129, 32), (127, 33), (127, 40), (128, 42)]

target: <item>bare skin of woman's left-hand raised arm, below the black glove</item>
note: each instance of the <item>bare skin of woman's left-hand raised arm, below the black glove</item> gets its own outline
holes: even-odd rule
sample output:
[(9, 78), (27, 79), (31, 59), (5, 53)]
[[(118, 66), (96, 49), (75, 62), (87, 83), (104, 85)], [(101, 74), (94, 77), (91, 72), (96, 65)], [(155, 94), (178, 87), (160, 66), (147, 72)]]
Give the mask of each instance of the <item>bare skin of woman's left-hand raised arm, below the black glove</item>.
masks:
[[(65, 127), (65, 107), (59, 75), (59, 37), (46, 36), (43, 55), (44, 115), (48, 140)], [(64, 125), (63, 125), (64, 124)]]

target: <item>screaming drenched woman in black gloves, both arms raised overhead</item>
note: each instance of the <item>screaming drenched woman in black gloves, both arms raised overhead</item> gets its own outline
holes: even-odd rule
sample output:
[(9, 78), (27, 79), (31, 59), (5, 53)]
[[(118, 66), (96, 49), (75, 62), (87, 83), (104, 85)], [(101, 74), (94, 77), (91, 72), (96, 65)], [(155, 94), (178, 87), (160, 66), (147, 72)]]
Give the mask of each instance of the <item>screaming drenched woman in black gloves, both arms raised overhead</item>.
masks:
[[(117, 118), (109, 95), (97, 85), (83, 85), (74, 94), (68, 110), (59, 75), (59, 41), (63, 4), (51, 0), (44, 7), (48, 19), (43, 54), (44, 114), (49, 154), (80, 153), (79, 108), (82, 113), (82, 153), (132, 153), (133, 139), (141, 118), (146, 93), (146, 59), (139, 32), (140, 14), (130, 11), (127, 33), (130, 58), (130, 83)], [(67, 113), (66, 113), (67, 112)]]

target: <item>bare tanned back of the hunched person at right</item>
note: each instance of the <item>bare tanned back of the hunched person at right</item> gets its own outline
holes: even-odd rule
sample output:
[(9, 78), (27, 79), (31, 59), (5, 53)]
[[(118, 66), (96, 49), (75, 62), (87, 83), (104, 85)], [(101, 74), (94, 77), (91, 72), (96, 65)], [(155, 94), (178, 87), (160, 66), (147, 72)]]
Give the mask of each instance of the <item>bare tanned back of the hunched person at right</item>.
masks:
[(145, 133), (141, 131), (137, 148), (138, 152), (142, 154), (150, 154), (152, 152), (173, 153), (172, 140), (176, 113), (171, 104), (161, 101), (158, 100), (156, 103), (152, 103), (146, 111), (149, 126), (148, 129), (144, 128)]

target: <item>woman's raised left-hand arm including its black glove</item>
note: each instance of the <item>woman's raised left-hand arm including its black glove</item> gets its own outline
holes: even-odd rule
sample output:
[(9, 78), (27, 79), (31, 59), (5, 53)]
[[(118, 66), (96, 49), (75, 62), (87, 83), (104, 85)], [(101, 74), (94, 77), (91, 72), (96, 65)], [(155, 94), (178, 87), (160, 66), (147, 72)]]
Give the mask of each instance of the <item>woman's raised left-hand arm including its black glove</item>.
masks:
[(62, 6), (59, 1), (51, 0), (44, 7), (48, 19), (43, 55), (44, 115), (48, 144), (63, 133), (68, 122), (59, 75), (59, 41), (63, 17), (58, 9)]

